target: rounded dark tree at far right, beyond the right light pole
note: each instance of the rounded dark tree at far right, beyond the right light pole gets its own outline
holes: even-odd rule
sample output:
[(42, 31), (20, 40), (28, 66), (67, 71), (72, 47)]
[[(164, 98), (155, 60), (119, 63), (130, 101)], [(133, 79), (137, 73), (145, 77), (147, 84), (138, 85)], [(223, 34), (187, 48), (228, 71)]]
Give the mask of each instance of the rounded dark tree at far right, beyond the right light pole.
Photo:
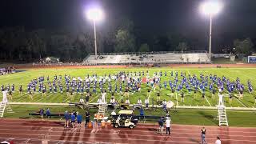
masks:
[(246, 38), (244, 40), (235, 39), (234, 40), (234, 48), (235, 53), (237, 54), (250, 54), (254, 43), (251, 42), (250, 38)]

